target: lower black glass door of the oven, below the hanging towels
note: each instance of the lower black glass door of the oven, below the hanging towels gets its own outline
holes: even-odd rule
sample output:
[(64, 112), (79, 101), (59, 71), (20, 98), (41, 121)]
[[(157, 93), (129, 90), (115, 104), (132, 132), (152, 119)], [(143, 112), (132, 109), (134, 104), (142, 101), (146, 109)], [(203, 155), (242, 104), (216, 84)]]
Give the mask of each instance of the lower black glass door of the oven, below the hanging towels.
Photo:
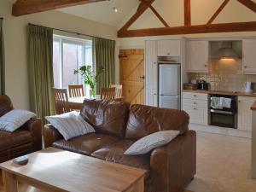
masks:
[(235, 114), (211, 109), (211, 125), (236, 128)]

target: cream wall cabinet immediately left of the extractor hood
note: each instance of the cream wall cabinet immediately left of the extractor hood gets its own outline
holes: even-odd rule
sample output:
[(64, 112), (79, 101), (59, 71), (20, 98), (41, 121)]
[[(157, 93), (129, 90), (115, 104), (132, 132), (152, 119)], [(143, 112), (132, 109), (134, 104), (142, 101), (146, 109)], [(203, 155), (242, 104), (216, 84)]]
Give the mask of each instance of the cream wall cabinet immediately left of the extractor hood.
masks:
[(187, 72), (209, 73), (209, 42), (187, 42)]

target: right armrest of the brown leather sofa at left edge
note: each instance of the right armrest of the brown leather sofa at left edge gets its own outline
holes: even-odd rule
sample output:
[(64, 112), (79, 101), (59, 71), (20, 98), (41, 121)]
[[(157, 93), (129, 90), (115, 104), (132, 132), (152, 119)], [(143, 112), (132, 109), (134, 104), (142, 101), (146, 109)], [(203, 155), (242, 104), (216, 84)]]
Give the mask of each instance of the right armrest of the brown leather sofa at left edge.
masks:
[(30, 131), (32, 134), (32, 150), (38, 151), (42, 149), (42, 120), (30, 119), (23, 125), (24, 130)]

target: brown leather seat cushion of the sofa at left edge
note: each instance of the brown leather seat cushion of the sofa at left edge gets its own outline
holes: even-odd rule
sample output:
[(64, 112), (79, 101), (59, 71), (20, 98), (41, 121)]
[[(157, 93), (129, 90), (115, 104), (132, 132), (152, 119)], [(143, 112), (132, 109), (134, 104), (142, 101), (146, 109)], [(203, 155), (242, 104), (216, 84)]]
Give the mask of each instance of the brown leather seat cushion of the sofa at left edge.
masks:
[(17, 130), (13, 133), (0, 131), (0, 151), (15, 148), (26, 143), (32, 143), (32, 135), (29, 131)]

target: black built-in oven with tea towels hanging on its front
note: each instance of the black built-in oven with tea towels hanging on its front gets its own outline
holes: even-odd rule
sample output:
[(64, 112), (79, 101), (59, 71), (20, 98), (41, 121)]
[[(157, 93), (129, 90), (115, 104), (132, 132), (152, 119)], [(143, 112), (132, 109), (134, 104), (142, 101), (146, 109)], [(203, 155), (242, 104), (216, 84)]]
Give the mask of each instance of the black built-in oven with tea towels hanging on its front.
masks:
[(210, 102), (212, 97), (230, 98), (231, 103), (230, 108), (212, 108), (210, 103), (210, 125), (237, 129), (237, 96), (212, 94)]

